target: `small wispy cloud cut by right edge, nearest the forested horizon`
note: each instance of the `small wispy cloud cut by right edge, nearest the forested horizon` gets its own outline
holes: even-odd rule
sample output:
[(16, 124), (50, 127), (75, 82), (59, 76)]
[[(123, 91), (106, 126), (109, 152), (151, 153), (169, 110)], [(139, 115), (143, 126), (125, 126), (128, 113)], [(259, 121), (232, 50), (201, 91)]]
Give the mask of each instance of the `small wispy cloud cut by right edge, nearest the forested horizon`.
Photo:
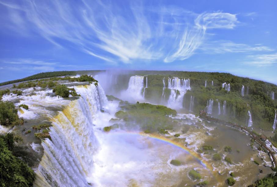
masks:
[(246, 64), (263, 67), (277, 63), (277, 53), (263, 55), (249, 55)]

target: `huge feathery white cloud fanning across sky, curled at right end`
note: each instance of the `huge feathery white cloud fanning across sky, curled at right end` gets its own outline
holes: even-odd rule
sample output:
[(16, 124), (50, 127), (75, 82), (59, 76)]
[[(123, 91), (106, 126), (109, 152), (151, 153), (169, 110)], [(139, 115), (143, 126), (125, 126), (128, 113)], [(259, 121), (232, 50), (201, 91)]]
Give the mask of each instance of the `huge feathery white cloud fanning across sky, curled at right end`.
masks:
[(197, 14), (174, 6), (122, 8), (85, 0), (74, 4), (23, 1), (20, 6), (0, 2), (9, 9), (14, 30), (30, 28), (60, 47), (69, 41), (78, 50), (111, 63), (184, 60), (195, 53), (209, 29), (233, 29), (239, 23), (236, 14)]

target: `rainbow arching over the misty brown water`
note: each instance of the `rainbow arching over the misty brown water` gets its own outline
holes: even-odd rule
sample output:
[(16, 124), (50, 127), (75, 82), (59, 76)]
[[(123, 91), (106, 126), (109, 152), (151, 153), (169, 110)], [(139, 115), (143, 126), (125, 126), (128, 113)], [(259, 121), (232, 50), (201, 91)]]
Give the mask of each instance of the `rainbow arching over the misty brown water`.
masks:
[(208, 169), (211, 173), (213, 172), (213, 167), (206, 161), (204, 160), (201, 155), (199, 153), (195, 153), (194, 151), (188, 149), (187, 147), (185, 147), (183, 144), (179, 143), (179, 142), (175, 142), (172, 139), (166, 138), (164, 136), (160, 136), (157, 134), (146, 134), (144, 132), (132, 132), (132, 131), (115, 131), (113, 133), (116, 134), (130, 134), (130, 135), (140, 135), (140, 136), (144, 136), (147, 138), (152, 138), (155, 140), (159, 140), (162, 142), (166, 142), (169, 143), (172, 146), (175, 146), (179, 149), (184, 150), (186, 153), (189, 153), (191, 156), (193, 156), (204, 168)]

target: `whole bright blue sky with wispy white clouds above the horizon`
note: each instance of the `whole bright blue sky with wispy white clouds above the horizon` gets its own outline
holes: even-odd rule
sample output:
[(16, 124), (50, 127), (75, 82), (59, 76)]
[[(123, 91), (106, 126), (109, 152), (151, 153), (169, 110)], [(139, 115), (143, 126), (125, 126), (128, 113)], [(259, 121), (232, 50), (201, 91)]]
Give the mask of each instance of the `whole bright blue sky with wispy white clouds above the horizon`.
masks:
[(123, 69), (228, 72), (277, 84), (276, 7), (274, 0), (0, 0), (0, 82)]

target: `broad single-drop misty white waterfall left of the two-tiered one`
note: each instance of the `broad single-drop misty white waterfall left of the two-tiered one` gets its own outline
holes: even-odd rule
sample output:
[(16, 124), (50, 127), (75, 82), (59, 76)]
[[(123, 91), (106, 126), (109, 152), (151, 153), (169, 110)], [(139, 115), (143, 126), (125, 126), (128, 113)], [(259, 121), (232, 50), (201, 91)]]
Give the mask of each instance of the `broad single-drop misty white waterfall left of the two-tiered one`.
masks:
[(137, 98), (141, 98), (143, 96), (144, 89), (144, 76), (132, 76), (129, 80), (129, 85), (127, 88), (127, 93), (133, 96), (137, 96)]

